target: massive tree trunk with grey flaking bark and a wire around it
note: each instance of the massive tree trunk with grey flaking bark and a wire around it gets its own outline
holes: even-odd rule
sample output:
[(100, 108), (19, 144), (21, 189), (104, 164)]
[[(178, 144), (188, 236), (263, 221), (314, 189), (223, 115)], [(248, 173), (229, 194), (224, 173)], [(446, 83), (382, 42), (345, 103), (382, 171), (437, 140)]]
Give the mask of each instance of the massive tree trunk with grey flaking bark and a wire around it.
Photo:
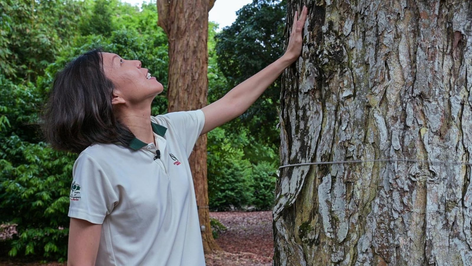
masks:
[[(305, 1), (303, 1), (305, 2)], [(289, 0), (288, 25), (302, 1)], [(283, 165), (472, 158), (470, 0), (313, 0), (283, 75)], [(472, 265), (471, 167), (282, 168), (276, 265)]]

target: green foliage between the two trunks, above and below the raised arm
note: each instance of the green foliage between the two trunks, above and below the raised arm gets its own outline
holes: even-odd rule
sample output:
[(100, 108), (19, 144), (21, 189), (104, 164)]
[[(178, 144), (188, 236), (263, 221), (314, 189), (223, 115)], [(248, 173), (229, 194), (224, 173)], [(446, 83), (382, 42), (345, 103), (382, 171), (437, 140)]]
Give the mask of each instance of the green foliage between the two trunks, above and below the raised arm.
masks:
[[(210, 102), (283, 53), (285, 0), (253, 0), (237, 15), (230, 27), (216, 34), (216, 44), (208, 45)], [(212, 36), (210, 31), (210, 40)], [(221, 126), (221, 137), (221, 132), (216, 130), (208, 134), (208, 191), (212, 210), (268, 210), (273, 206), (279, 95), (280, 80), (277, 80), (244, 115)]]

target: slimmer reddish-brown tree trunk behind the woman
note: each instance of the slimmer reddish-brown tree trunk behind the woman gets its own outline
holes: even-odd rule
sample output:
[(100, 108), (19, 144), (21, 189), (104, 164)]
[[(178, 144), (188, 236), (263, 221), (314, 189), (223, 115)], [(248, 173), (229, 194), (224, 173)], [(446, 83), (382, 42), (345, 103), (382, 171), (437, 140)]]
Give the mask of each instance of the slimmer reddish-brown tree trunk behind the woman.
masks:
[[(208, 11), (215, 0), (158, 0), (158, 25), (169, 38), (169, 112), (206, 106), (208, 94)], [(219, 250), (208, 209), (207, 137), (201, 136), (190, 156), (205, 253)]]

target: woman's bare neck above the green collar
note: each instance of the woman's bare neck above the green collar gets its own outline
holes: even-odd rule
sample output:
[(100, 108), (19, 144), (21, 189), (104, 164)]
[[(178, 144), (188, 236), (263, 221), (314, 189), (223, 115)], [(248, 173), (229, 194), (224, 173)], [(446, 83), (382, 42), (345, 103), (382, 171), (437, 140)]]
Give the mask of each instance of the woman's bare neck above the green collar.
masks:
[(118, 119), (142, 142), (154, 143), (151, 126), (151, 106), (144, 109), (124, 108), (117, 112)]

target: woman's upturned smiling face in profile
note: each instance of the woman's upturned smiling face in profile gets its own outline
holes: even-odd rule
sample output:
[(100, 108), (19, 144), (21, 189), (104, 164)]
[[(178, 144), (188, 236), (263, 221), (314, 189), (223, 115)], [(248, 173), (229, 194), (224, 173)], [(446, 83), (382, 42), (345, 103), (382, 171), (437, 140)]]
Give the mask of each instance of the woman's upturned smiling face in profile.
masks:
[[(154, 99), (164, 87), (156, 78), (141, 68), (138, 60), (124, 60), (115, 53), (101, 53), (105, 76), (115, 85), (113, 104), (140, 104)], [(149, 77), (149, 78), (148, 78)]]

